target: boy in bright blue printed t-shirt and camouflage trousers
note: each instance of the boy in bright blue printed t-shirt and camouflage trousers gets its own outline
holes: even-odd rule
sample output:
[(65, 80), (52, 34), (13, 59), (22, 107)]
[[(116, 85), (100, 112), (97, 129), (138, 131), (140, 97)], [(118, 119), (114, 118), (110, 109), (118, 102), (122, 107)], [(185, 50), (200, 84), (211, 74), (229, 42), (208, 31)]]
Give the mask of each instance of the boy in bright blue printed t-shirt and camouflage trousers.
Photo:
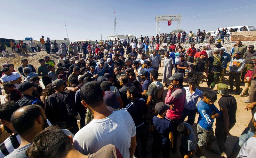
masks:
[(198, 134), (198, 157), (203, 156), (203, 147), (212, 151), (215, 154), (220, 152), (212, 148), (212, 143), (215, 141), (212, 124), (214, 119), (220, 117), (220, 111), (213, 104), (217, 100), (217, 94), (214, 91), (206, 91), (203, 93), (204, 98), (197, 104), (197, 111), (199, 113), (197, 121), (197, 134)]

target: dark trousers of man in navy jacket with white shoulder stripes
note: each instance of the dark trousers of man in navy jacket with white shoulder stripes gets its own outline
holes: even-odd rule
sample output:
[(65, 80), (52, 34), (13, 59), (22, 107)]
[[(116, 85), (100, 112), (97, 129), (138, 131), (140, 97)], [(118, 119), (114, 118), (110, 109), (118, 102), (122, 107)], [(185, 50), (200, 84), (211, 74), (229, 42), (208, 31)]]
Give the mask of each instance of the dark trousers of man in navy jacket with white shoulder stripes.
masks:
[[(137, 141), (137, 144), (139, 144), (139, 139), (140, 139), (140, 144), (141, 144), (141, 148), (142, 148), (142, 154), (143, 154), (144, 157), (146, 157), (147, 154), (148, 154), (148, 151), (147, 151), (145, 124), (143, 124), (140, 127), (136, 128), (136, 141)], [(134, 156), (135, 157), (139, 157), (138, 145), (136, 146)]]

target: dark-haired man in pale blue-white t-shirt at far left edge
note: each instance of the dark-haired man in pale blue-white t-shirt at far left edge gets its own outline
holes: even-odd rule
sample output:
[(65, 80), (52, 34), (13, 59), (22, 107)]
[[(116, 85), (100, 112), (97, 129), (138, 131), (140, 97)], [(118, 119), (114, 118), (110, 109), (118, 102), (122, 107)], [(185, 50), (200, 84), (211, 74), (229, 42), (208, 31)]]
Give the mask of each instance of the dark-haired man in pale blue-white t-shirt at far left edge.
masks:
[(11, 72), (8, 67), (4, 67), (2, 71), (4, 72), (4, 75), (1, 77), (2, 84), (10, 82), (13, 83), (17, 89), (22, 81), (20, 74), (17, 72)]

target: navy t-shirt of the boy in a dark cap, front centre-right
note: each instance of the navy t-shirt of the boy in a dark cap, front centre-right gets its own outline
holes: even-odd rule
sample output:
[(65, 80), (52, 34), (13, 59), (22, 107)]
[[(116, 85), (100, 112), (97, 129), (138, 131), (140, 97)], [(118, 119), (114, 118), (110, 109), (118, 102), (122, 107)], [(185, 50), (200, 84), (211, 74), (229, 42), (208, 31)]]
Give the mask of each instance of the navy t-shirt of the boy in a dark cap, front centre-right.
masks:
[(154, 116), (151, 124), (154, 125), (153, 144), (169, 145), (171, 143), (169, 132), (172, 132), (172, 122), (165, 118)]

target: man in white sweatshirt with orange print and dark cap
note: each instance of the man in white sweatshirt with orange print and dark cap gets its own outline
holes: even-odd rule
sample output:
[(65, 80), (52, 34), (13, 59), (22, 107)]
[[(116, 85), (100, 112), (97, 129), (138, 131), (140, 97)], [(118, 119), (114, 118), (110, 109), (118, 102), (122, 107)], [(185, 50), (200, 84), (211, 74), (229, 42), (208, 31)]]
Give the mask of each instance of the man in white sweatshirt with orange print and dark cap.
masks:
[(241, 57), (242, 53), (237, 51), (235, 52), (235, 56), (231, 59), (230, 63), (229, 63), (229, 78), (228, 78), (228, 82), (229, 82), (229, 86), (230, 86), (230, 91), (233, 91), (233, 81), (235, 79), (236, 81), (236, 93), (240, 94), (240, 75), (241, 72), (244, 69), (244, 65), (245, 65), (245, 60)]

